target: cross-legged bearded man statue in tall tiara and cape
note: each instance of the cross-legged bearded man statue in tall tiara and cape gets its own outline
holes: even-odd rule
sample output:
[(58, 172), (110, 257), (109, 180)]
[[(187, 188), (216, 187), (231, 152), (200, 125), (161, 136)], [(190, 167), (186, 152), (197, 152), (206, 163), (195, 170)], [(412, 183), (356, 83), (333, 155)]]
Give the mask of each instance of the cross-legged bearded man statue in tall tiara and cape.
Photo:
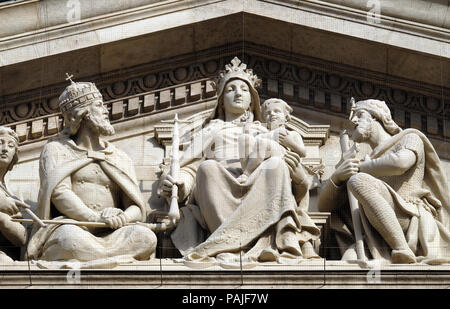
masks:
[(46, 261), (146, 260), (156, 236), (143, 225), (142, 201), (131, 159), (101, 136), (114, 134), (93, 83), (71, 81), (61, 94), (65, 128), (40, 158), (37, 215), (43, 219), (99, 222), (106, 227), (48, 224), (35, 231), (28, 253)]

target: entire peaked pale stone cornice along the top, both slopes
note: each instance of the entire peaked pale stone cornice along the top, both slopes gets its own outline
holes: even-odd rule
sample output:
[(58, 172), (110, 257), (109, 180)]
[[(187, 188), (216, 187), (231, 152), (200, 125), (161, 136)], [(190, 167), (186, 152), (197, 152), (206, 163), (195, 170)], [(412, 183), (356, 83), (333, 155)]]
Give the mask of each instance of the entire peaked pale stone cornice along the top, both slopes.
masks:
[[(45, 6), (45, 3), (34, 4)], [(367, 21), (366, 11), (350, 6), (325, 1), (167, 0), (0, 38), (0, 65), (30, 61), (238, 13), (450, 58), (448, 29), (385, 15), (380, 17), (379, 23), (371, 23)], [(124, 27), (127, 31), (123, 31)]]

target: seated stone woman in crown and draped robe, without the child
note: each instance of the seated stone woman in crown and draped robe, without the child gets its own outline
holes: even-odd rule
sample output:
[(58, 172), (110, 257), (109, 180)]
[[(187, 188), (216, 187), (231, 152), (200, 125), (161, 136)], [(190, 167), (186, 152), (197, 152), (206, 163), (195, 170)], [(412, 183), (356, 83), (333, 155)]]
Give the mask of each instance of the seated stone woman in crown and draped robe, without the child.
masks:
[[(295, 195), (299, 158), (270, 157), (244, 183), (239, 136), (267, 133), (260, 116), (259, 80), (234, 58), (216, 82), (213, 117), (183, 149), (179, 178), (163, 174), (159, 193), (170, 197), (174, 184), (185, 201), (171, 237), (185, 261), (234, 263), (318, 257), (311, 241), (320, 231)], [(300, 167), (301, 168), (301, 167)], [(303, 172), (303, 171), (301, 171)]]

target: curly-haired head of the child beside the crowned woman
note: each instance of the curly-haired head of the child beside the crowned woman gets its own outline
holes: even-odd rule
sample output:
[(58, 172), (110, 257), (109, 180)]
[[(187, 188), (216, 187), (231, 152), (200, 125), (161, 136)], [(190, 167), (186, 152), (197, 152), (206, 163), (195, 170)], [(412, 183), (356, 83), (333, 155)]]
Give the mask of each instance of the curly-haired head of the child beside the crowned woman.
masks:
[(263, 119), (267, 122), (267, 128), (274, 130), (284, 126), (291, 120), (292, 107), (281, 99), (268, 99), (261, 105)]

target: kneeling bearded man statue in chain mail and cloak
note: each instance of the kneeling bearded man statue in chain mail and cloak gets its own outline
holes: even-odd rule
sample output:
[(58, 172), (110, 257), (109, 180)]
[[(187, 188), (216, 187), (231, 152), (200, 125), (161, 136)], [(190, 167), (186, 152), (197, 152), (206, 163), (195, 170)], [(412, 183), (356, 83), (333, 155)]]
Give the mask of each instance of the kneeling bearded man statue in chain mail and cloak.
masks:
[(350, 119), (354, 142), (373, 151), (363, 161), (344, 153), (318, 205), (333, 212), (342, 259), (355, 259), (348, 188), (359, 204), (367, 256), (392, 263), (450, 262), (448, 184), (427, 137), (400, 129), (379, 100), (357, 102)]

